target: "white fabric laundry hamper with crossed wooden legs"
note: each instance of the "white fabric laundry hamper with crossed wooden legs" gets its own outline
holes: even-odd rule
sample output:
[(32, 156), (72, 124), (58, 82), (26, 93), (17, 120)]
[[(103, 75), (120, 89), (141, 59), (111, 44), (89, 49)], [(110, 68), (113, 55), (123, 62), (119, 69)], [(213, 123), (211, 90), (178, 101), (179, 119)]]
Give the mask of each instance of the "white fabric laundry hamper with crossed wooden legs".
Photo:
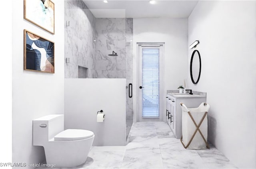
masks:
[(207, 113), (210, 105), (201, 103), (198, 108), (187, 108), (183, 103), (180, 105), (182, 107), (182, 137), (180, 141), (184, 148), (210, 148), (207, 143)]

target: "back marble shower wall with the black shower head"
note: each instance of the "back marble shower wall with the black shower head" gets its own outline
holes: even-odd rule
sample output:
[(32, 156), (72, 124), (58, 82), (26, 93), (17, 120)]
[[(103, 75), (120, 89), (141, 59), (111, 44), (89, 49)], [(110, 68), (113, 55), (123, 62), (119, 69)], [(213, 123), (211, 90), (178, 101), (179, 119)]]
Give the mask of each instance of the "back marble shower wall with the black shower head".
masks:
[[(96, 55), (94, 78), (126, 78), (132, 83), (132, 18), (96, 18)], [(109, 56), (115, 51), (118, 56)], [(132, 98), (126, 90), (126, 119), (132, 120)]]

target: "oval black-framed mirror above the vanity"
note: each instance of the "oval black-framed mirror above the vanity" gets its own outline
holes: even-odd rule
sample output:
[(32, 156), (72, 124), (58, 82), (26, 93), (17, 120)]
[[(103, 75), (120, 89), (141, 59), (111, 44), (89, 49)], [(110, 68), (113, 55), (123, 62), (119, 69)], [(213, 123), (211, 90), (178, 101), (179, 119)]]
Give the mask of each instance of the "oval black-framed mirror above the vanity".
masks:
[[(201, 57), (198, 50), (194, 50), (190, 59), (190, 77), (192, 83), (198, 83), (201, 75)], [(197, 79), (194, 79), (197, 78)]]

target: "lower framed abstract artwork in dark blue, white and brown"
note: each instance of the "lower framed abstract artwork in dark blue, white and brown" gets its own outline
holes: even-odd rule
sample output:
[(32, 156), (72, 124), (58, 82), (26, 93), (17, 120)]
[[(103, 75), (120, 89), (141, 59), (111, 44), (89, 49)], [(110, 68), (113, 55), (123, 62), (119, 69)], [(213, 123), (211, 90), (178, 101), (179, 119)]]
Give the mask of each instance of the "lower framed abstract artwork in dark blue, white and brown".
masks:
[(24, 70), (54, 73), (54, 42), (24, 29)]

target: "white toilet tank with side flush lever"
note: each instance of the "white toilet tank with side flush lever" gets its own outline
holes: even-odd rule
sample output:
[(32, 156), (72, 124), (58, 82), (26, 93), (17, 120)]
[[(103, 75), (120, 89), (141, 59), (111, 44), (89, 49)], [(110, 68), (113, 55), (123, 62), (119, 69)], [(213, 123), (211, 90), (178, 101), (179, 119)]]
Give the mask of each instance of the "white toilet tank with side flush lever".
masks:
[(64, 130), (64, 115), (50, 114), (33, 120), (33, 145), (44, 145)]

